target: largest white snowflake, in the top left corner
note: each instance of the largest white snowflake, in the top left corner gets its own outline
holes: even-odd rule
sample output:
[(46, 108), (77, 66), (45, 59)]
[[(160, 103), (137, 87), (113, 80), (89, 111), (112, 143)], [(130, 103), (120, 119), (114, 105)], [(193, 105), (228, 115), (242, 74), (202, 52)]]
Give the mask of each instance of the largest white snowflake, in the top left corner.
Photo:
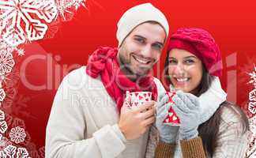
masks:
[[(11, 46), (43, 39), (47, 24), (57, 14), (54, 0), (0, 0), (2, 37)], [(39, 19), (36, 19), (38, 17)], [(24, 24), (24, 25), (23, 25)]]

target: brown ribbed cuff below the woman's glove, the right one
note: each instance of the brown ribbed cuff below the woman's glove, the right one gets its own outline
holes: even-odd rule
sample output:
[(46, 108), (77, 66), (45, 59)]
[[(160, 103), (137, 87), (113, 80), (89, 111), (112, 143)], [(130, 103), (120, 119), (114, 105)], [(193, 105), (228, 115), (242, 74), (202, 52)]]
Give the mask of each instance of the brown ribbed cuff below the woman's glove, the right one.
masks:
[(183, 158), (205, 158), (201, 137), (180, 141)]

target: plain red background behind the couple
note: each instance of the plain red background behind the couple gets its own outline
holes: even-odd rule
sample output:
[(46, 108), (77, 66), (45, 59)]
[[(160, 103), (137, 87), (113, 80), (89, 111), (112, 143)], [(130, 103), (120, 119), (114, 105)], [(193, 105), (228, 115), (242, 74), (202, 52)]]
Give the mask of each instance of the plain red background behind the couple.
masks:
[[(219, 44), (224, 58), (224, 76), (221, 78), (223, 87), (228, 86), (228, 71), (235, 71), (237, 82), (236, 100), (239, 105), (247, 102), (250, 86), (247, 85), (249, 72), (256, 62), (256, 9), (253, 0), (248, 1), (137, 1), (137, 0), (88, 0), (85, 9), (81, 6), (71, 21), (61, 22), (58, 32), (50, 39), (27, 44), (24, 58), (29, 55), (60, 55), (55, 66), (70, 66), (74, 63), (86, 65), (88, 55), (100, 46), (117, 46), (115, 38), (116, 24), (122, 13), (142, 2), (152, 2), (161, 9), (170, 24), (170, 33), (179, 27), (205, 28)], [(225, 58), (236, 52), (235, 66), (226, 67)], [(160, 60), (161, 69), (164, 66), (166, 52)], [(55, 71), (54, 71), (55, 72)], [(51, 73), (51, 72), (50, 72)], [(156, 72), (156, 77), (159, 72)], [(38, 85), (47, 82), (46, 61), (33, 61), (23, 74), (28, 80)], [(55, 75), (54, 75), (55, 76)], [(55, 82), (55, 77), (51, 80)], [(38, 147), (44, 145), (47, 119), (51, 111), (51, 104), (55, 96), (55, 88), (49, 90), (32, 91), (21, 85), (19, 92), (32, 96), (28, 102), (28, 111), (34, 116), (24, 119), (26, 130), (32, 141)]]

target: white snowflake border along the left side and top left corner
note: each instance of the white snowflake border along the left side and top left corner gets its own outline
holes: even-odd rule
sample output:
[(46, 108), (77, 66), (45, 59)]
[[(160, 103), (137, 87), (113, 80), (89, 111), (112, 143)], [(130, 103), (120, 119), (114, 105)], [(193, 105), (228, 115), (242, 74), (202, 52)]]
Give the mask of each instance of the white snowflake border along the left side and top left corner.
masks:
[[(32, 40), (43, 39), (48, 29), (47, 24), (55, 21), (59, 15), (65, 20), (64, 12), (72, 13), (69, 11), (72, 7), (75, 10), (80, 6), (85, 7), (85, 2), (86, 0), (0, 0), (0, 107), (6, 97), (2, 81), (6, 81), (15, 65), (12, 54), (16, 51), (18, 56), (24, 55), (24, 50), (17, 47)], [(23, 128), (13, 127), (9, 132), (10, 140), (2, 136), (7, 130), (5, 113), (0, 110), (0, 157), (36, 156), (37, 152), (32, 152), (29, 156), (27, 149), (15, 146), (25, 141), (27, 135)], [(41, 150), (44, 153), (42, 148)]]

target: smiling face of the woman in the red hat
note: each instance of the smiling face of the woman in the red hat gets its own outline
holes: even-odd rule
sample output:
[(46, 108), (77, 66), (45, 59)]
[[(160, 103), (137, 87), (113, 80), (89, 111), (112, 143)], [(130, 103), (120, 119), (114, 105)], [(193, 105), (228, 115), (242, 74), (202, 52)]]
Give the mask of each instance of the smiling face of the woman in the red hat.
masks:
[(176, 89), (183, 92), (197, 92), (202, 69), (201, 60), (189, 51), (176, 48), (169, 51), (168, 75)]

